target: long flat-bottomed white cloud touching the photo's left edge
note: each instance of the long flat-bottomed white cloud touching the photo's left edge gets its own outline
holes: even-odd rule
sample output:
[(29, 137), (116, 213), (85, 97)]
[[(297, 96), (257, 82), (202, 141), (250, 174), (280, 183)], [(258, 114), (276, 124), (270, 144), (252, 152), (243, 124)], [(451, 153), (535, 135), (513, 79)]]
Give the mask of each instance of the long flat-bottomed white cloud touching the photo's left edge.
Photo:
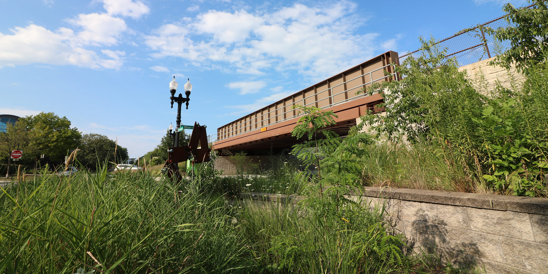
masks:
[[(0, 68), (34, 63), (89, 68), (117, 68), (122, 64), (120, 58), (104, 59), (85, 49), (82, 38), (69, 28), (52, 32), (32, 24), (15, 27), (12, 32), (12, 35), (0, 33)], [(106, 55), (113, 56), (110, 51)]]

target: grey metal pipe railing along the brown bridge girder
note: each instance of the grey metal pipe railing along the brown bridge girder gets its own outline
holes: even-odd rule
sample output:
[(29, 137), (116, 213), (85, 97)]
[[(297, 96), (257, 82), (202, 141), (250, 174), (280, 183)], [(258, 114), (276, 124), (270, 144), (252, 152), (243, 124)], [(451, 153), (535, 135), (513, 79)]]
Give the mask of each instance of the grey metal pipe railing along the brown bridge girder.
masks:
[[(393, 73), (393, 71), (394, 71), (393, 67), (394, 67), (393, 64), (387, 64), (387, 65), (381, 66), (379, 68), (376, 68), (372, 71), (368, 71), (366, 73), (363, 73), (362, 75), (353, 77), (350, 80), (346, 80), (342, 83), (336, 84), (333, 87), (329, 87), (329, 88), (321, 90), (319, 92), (315, 92), (312, 95), (303, 97), (302, 99), (299, 99), (298, 101), (293, 102), (292, 106), (294, 106), (294, 105), (310, 106), (310, 105), (315, 105), (316, 103), (319, 103), (321, 101), (325, 101), (326, 99), (329, 99), (329, 100), (327, 100), (328, 103), (326, 105), (323, 105), (323, 106), (319, 107), (320, 109), (327, 109), (328, 107), (344, 104), (345, 102), (349, 102), (349, 101), (353, 101), (353, 100), (356, 100), (356, 99), (359, 99), (359, 98), (369, 96), (369, 94), (367, 94), (367, 93), (362, 93), (362, 94), (352, 96), (351, 98), (346, 98), (346, 99), (342, 99), (342, 100), (335, 100), (337, 95), (345, 94), (345, 93), (347, 93), (351, 90), (355, 90), (355, 89), (358, 89), (358, 88), (361, 90), (363, 87), (371, 85), (375, 82), (386, 81), (390, 77), (395, 77), (395, 73)], [(379, 72), (379, 71), (383, 71), (383, 73), (386, 72), (386, 71), (390, 71), (392, 73), (384, 73), (384, 76), (382, 76), (382, 77), (373, 78), (373, 75), (375, 74), (375, 72)], [(368, 81), (366, 83), (355, 85), (351, 88), (346, 87), (347, 84), (349, 84), (350, 82), (355, 81), (356, 79), (359, 79), (361, 77), (368, 78)], [(333, 89), (337, 88), (337, 87), (340, 87), (340, 86), (343, 86), (343, 87), (346, 87), (346, 88), (342, 92), (334, 93)], [(317, 96), (318, 94), (321, 94), (323, 92), (328, 92), (330, 95), (328, 97), (325, 97), (325, 98), (321, 98), (321, 99), (318, 99), (318, 100), (315, 100), (315, 101), (312, 101), (312, 102), (305, 103), (306, 99), (312, 98), (313, 96)], [(281, 122), (287, 121), (288, 119), (293, 119), (295, 117), (302, 116), (302, 113), (296, 112), (293, 109), (293, 107), (289, 107), (289, 110), (283, 111), (283, 109), (284, 108), (287, 109), (287, 107), (288, 107), (287, 105), (282, 105), (281, 107), (278, 107), (274, 110), (263, 113), (262, 115), (260, 115), (258, 117), (252, 118), (249, 121), (244, 121), (244, 122), (232, 125), (229, 128), (224, 128), (224, 129), (221, 130), (221, 132), (218, 132), (218, 133), (213, 134), (213, 135), (209, 135), (208, 140), (211, 140), (211, 142), (224, 140), (224, 139), (227, 139), (227, 138), (232, 138), (233, 136), (241, 135), (241, 134), (248, 133), (248, 132), (251, 132), (253, 130), (256, 130), (256, 129), (258, 129), (258, 127), (256, 126), (257, 124), (264, 123), (264, 121), (266, 121), (266, 119), (272, 118), (272, 117), (270, 117), (271, 113), (275, 113), (276, 116), (281, 115), (283, 118), (279, 119), (278, 121), (275, 121), (275, 122), (262, 124), (261, 127), (268, 127), (269, 125), (281, 123)], [(279, 110), (282, 110), (282, 112), (278, 113), (277, 111), (279, 111)], [(293, 112), (293, 113), (291, 113), (291, 112)], [(287, 115), (288, 113), (291, 113), (291, 114)], [(255, 122), (250, 124), (250, 122), (253, 122), (253, 121), (255, 121)], [(241, 130), (242, 128), (248, 128), (248, 129)]]

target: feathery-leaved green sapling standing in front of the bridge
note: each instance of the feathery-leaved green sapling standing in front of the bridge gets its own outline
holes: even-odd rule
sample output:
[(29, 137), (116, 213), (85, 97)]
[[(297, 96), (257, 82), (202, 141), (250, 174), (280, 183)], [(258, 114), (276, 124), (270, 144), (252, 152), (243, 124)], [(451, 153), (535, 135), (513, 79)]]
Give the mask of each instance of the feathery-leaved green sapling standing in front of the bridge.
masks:
[[(305, 165), (318, 170), (318, 176), (312, 175), (311, 184), (305, 190), (307, 198), (302, 204), (309, 209), (309, 214), (301, 218), (304, 219), (302, 222), (309, 222), (306, 227), (319, 228), (310, 231), (311, 235), (316, 237), (313, 242), (324, 243), (333, 237), (340, 239), (340, 242), (336, 242), (339, 247), (343, 246), (342, 242), (345, 239), (349, 239), (348, 244), (353, 246), (349, 248), (348, 253), (351, 260), (329, 254), (328, 249), (318, 249), (315, 253), (321, 255), (317, 256), (322, 257), (325, 254), (329, 258), (324, 262), (326, 266), (327, 261), (339, 257), (338, 265), (340, 266), (340, 262), (344, 260), (345, 264), (354, 269), (353, 271), (356, 271), (356, 267), (363, 267), (366, 272), (372, 270), (367, 266), (367, 260), (375, 259), (383, 260), (387, 265), (401, 266), (401, 239), (381, 231), (382, 222), (368, 226), (367, 231), (363, 227), (358, 229), (354, 226), (367, 219), (363, 216), (370, 213), (370, 208), (362, 207), (360, 203), (347, 198), (351, 190), (357, 191), (362, 186), (362, 159), (367, 156), (366, 147), (372, 144), (371, 136), (359, 133), (354, 128), (345, 138), (340, 138), (333, 130), (327, 128), (336, 123), (337, 116), (333, 111), (305, 106), (295, 106), (295, 109), (304, 112), (304, 116), (299, 119), (292, 134), (296, 138), (306, 139), (302, 144), (293, 146), (292, 154)], [(299, 261), (306, 258), (307, 248), (300, 242), (300, 239), (305, 237), (308, 237), (306, 233), (300, 234), (299, 237), (283, 233), (273, 239), (270, 250), (279, 258), (279, 262), (269, 267), (277, 270), (298, 268)], [(337, 267), (333, 272), (338, 271), (340, 269)]]

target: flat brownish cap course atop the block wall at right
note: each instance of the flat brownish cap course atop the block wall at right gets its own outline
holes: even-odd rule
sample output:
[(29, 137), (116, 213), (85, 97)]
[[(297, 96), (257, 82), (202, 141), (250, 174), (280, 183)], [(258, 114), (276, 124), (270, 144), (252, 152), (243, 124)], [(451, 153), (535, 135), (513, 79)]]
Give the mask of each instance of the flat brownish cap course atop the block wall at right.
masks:
[(548, 215), (548, 198), (368, 186), (362, 196)]

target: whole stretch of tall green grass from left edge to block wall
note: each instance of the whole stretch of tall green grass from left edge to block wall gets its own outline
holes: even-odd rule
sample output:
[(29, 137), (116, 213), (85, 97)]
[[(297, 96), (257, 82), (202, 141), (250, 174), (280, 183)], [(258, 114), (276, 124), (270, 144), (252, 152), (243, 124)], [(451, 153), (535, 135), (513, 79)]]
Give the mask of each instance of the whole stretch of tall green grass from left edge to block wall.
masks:
[[(0, 189), (2, 273), (391, 273), (408, 258), (380, 209), (317, 198), (258, 208), (151, 173), (37, 176)], [(279, 204), (278, 204), (279, 205)]]

